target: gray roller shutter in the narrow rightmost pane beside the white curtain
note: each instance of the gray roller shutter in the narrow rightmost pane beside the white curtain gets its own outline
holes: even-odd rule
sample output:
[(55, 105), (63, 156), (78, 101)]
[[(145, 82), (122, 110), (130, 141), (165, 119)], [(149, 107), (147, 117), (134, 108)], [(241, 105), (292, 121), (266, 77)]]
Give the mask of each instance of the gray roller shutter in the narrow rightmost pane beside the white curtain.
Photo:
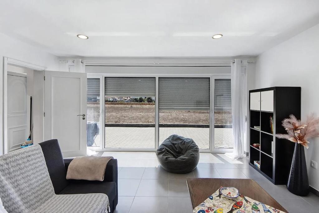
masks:
[(230, 79), (215, 79), (215, 111), (232, 110), (232, 91)]

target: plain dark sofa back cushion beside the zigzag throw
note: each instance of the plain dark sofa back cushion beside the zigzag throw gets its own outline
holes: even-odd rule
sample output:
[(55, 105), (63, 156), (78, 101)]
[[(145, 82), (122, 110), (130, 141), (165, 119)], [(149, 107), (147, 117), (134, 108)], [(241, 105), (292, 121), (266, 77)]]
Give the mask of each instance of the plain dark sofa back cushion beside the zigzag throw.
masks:
[(58, 140), (52, 139), (39, 143), (48, 167), (54, 192), (58, 194), (68, 185), (66, 169)]

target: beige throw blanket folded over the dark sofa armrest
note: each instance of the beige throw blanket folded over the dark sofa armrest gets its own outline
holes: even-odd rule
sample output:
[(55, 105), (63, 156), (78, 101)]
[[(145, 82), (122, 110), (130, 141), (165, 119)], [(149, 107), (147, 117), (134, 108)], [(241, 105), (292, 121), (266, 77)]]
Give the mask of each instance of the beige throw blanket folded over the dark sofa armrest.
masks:
[(113, 157), (75, 157), (68, 168), (66, 179), (104, 180), (105, 168)]

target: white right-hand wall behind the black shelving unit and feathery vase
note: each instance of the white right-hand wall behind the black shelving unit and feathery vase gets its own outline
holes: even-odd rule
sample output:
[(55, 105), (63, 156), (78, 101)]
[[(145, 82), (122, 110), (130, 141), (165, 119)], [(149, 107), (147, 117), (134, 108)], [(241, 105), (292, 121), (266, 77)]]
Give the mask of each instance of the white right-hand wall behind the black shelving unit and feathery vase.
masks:
[[(316, 25), (257, 57), (256, 88), (301, 87), (301, 119), (305, 120), (311, 112), (319, 116), (318, 61), (319, 25)], [(310, 186), (319, 190), (319, 168), (310, 167), (310, 160), (319, 163), (318, 138), (310, 140), (306, 158)]]

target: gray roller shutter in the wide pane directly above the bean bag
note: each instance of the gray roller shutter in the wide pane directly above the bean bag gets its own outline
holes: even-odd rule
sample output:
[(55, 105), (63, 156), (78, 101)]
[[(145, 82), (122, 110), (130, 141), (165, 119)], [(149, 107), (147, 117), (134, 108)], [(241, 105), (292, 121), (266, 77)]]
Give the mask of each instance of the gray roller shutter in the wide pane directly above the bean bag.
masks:
[(159, 110), (209, 110), (210, 78), (159, 78)]

